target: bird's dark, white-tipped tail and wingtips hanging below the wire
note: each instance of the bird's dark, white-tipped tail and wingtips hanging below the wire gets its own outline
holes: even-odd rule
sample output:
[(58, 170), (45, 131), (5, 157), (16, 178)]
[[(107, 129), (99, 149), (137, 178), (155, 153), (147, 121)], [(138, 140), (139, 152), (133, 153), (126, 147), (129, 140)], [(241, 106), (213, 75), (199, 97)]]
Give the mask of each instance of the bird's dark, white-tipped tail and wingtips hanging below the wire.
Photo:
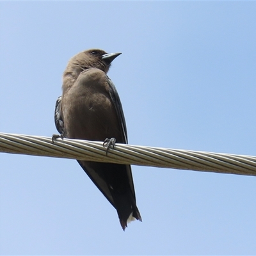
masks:
[(127, 227), (127, 223), (132, 220), (141, 221), (140, 212), (136, 205), (135, 193), (132, 193), (132, 176), (129, 182), (130, 166), (79, 160), (78, 163), (113, 207), (115, 207), (124, 230)]

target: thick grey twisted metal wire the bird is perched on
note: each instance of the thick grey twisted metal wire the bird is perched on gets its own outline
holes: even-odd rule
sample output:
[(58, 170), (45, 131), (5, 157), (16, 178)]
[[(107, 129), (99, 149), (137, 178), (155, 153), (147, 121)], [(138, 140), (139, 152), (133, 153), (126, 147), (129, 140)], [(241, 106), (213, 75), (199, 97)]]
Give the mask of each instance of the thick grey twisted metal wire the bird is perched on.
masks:
[(116, 143), (106, 148), (100, 141), (58, 139), (0, 133), (0, 152), (31, 156), (62, 157), (118, 164), (135, 164), (202, 172), (256, 175), (256, 157), (234, 154), (143, 147)]

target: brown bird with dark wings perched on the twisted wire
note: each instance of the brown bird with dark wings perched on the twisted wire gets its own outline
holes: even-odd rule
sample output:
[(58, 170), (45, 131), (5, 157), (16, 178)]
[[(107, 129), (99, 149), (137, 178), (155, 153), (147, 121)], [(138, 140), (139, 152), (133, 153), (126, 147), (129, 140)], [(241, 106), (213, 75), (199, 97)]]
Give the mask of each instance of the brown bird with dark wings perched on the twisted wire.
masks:
[[(53, 134), (52, 142), (60, 137), (104, 141), (108, 148), (115, 145), (115, 141), (128, 143), (120, 97), (107, 76), (111, 62), (120, 54), (89, 49), (68, 61), (63, 73), (62, 95), (54, 111), (60, 135)], [(77, 162), (115, 207), (123, 230), (132, 220), (142, 221), (129, 164)]]

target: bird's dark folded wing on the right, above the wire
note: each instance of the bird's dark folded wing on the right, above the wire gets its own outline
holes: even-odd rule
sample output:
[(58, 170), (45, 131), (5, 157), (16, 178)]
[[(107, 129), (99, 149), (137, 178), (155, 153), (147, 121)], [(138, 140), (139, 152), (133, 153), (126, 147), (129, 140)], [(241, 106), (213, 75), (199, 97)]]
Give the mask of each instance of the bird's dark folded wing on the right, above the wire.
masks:
[(120, 123), (121, 128), (122, 128), (122, 133), (124, 135), (124, 141), (122, 141), (122, 142), (119, 141), (119, 142), (127, 144), (128, 143), (127, 129), (126, 129), (124, 111), (123, 111), (123, 108), (122, 108), (121, 100), (120, 100), (119, 95), (117, 93), (115, 84), (113, 84), (113, 82), (111, 81), (111, 79), (108, 76), (107, 76), (107, 81), (108, 81), (109, 88), (110, 88), (109, 94), (110, 94), (111, 100), (113, 101), (113, 104), (115, 106), (116, 113), (117, 113), (117, 116), (118, 116), (118, 119), (119, 119), (119, 123)]

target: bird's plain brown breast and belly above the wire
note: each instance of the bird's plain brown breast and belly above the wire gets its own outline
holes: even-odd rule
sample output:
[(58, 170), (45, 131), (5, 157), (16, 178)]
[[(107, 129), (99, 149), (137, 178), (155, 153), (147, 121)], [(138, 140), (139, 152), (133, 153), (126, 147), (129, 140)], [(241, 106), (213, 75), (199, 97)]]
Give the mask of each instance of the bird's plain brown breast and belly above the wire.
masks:
[(99, 141), (115, 137), (122, 140), (106, 74), (93, 70), (81, 75), (62, 99), (67, 137)]

